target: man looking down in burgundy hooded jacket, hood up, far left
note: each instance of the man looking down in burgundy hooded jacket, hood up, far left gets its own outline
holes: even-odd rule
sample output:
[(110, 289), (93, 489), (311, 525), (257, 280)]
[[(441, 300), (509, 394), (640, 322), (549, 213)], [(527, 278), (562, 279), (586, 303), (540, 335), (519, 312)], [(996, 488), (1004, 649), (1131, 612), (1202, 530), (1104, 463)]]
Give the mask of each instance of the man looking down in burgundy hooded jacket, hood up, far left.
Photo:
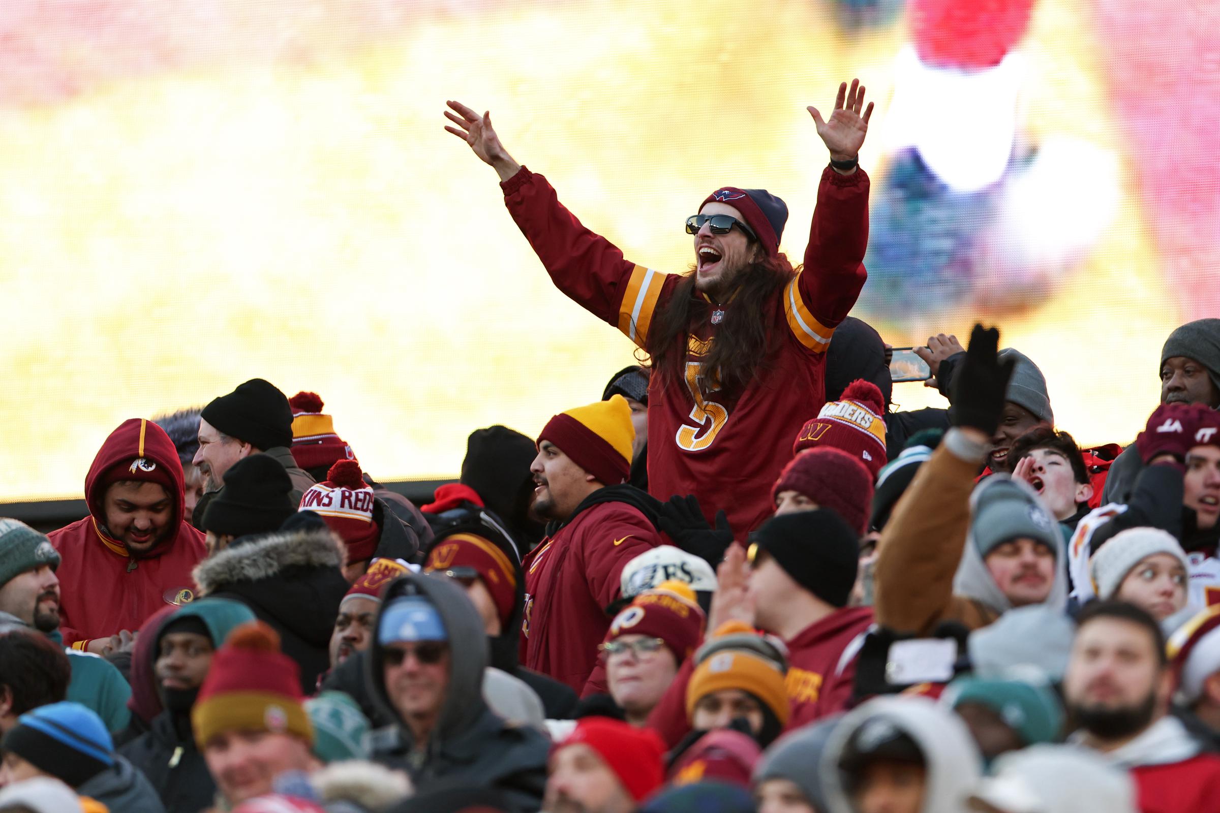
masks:
[(89, 516), (48, 539), (63, 558), (63, 644), (101, 655), (111, 636), (194, 597), (190, 570), (204, 558), (204, 535), (185, 516), (178, 451), (151, 421), (131, 418), (106, 438), (84, 496)]

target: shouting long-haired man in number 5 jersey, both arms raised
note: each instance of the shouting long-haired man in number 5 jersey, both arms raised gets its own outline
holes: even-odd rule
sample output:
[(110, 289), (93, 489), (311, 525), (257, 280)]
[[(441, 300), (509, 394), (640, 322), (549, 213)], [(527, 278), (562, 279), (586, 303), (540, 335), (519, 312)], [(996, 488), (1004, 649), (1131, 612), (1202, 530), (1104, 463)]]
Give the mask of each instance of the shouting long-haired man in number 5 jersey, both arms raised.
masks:
[(721, 186), (687, 219), (695, 264), (665, 274), (626, 260), (581, 224), (545, 178), (508, 154), (490, 116), (450, 101), (447, 127), (500, 177), (505, 205), (555, 285), (651, 357), (648, 490), (699, 499), (744, 539), (771, 514), (792, 439), (825, 401), (826, 347), (866, 277), (869, 177), (856, 156), (872, 105), (858, 82), (833, 115), (809, 107), (831, 163), (821, 176), (804, 266), (780, 251), (787, 205)]

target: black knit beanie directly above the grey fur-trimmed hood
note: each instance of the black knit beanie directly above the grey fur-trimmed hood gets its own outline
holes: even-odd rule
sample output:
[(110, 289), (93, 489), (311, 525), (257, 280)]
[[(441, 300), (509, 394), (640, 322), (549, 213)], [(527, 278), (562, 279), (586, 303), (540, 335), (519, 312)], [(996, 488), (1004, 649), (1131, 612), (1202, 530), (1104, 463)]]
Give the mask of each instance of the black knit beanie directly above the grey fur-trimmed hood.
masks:
[(224, 472), (224, 488), (204, 512), (204, 530), (232, 536), (278, 530), (296, 513), (292, 490), (288, 472), (273, 457), (244, 457)]

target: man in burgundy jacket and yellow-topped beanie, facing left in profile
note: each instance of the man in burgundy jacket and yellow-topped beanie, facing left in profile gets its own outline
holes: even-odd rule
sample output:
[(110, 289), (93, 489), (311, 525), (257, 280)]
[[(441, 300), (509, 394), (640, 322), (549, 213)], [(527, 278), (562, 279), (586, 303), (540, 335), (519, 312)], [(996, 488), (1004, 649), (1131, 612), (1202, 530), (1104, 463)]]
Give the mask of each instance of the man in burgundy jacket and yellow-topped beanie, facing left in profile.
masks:
[(621, 395), (569, 410), (538, 435), (533, 509), (551, 520), (521, 562), (526, 613), (521, 661), (582, 695), (605, 694), (598, 645), (610, 628), (622, 568), (661, 542), (648, 495), (631, 470), (631, 407)]

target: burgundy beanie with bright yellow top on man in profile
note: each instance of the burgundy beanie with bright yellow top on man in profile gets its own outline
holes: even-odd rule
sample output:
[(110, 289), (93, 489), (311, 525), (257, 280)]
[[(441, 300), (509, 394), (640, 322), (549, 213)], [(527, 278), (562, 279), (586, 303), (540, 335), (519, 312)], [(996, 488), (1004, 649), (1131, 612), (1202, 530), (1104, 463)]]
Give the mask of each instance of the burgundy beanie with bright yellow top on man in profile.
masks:
[(549, 441), (604, 485), (623, 483), (631, 474), (631, 445), (636, 429), (627, 399), (567, 410), (553, 417), (538, 435)]

